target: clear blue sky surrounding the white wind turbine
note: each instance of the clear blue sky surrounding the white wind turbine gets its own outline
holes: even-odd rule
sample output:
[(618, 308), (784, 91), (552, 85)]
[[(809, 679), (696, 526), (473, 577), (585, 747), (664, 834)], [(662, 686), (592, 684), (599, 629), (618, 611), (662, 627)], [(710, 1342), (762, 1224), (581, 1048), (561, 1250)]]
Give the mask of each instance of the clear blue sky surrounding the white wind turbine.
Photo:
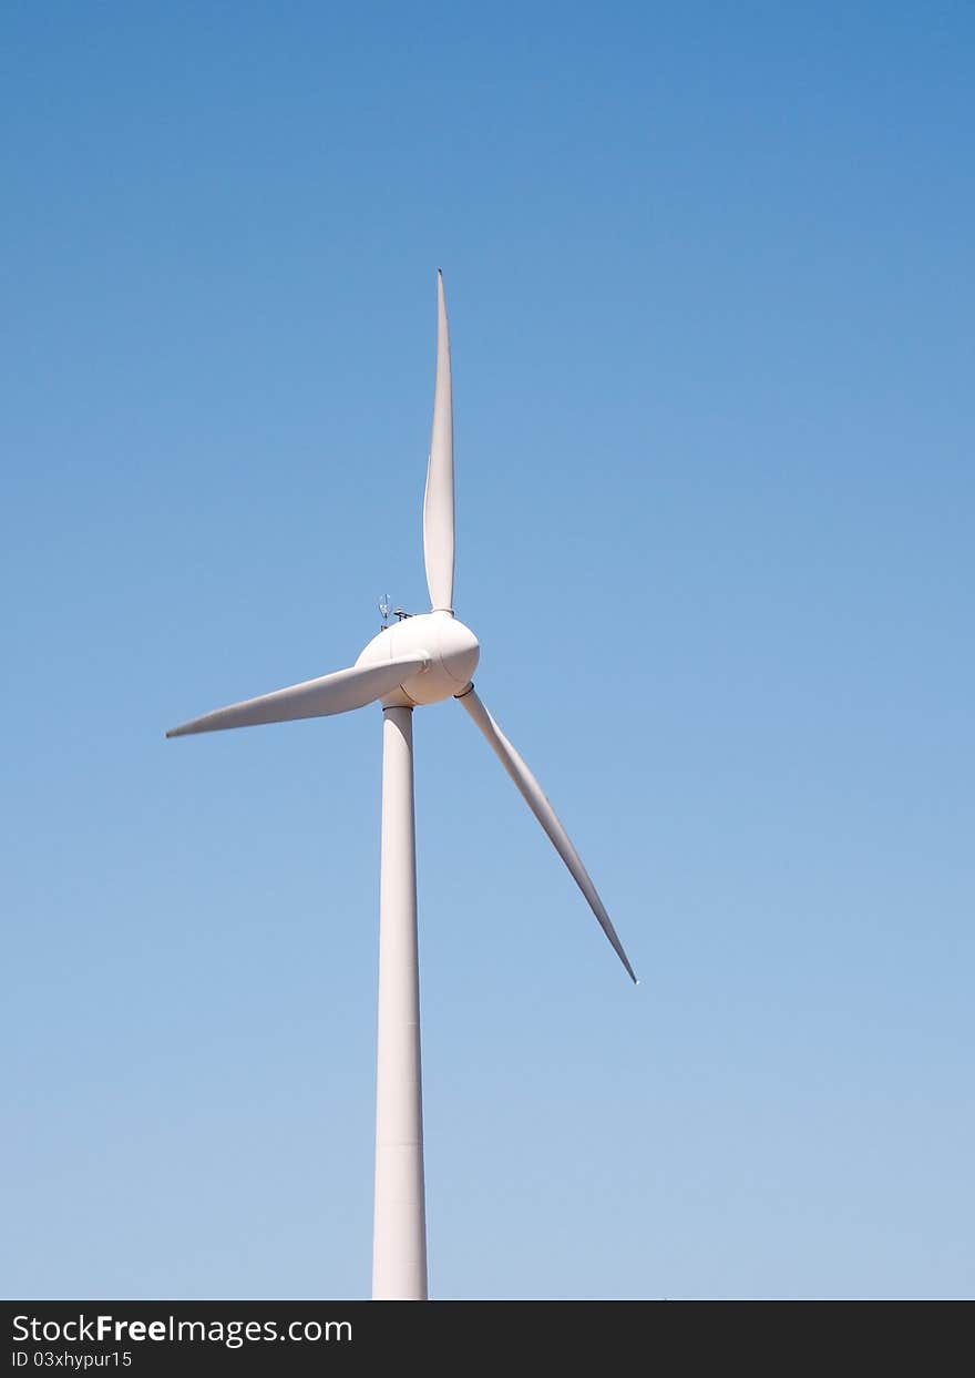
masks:
[(11, 4), (4, 1295), (369, 1287), (435, 269), (431, 1291), (975, 1287), (969, 6)]

